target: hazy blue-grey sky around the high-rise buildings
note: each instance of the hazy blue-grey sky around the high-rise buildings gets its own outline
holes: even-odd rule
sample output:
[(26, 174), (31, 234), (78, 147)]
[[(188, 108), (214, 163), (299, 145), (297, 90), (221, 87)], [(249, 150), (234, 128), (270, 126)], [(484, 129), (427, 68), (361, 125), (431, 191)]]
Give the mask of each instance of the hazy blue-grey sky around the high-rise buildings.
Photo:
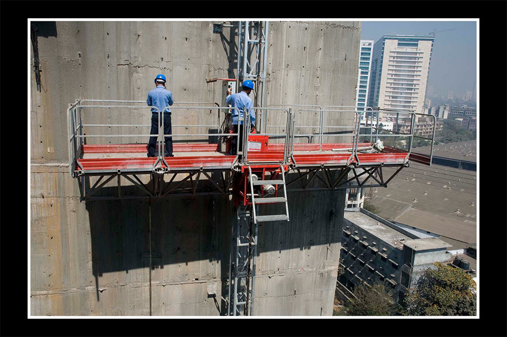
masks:
[(464, 94), (473, 90), (476, 80), (476, 26), (475, 21), (363, 21), (361, 39), (377, 42), (383, 35), (429, 35), (436, 29), (428, 85), (434, 94), (446, 95), (448, 90)]

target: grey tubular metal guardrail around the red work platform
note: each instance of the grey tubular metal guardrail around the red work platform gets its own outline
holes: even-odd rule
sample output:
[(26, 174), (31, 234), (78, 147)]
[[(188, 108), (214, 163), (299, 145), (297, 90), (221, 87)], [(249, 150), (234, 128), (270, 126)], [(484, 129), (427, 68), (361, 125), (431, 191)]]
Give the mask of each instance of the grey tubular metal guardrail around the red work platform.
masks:
[[(87, 105), (84, 105), (83, 103), (87, 103)], [(98, 103), (98, 104), (95, 104)], [(103, 103), (114, 103), (114, 104), (103, 104)], [(118, 103), (127, 103), (126, 105), (118, 105)], [(68, 136), (68, 152), (69, 152), (69, 166), (70, 166), (70, 173), (72, 174), (73, 163), (76, 163), (76, 165), (79, 165), (81, 167), (81, 170), (83, 170), (83, 167), (79, 163), (78, 159), (82, 155), (82, 149), (84, 145), (84, 140), (86, 138), (100, 138), (100, 137), (112, 137), (112, 138), (121, 138), (121, 137), (153, 137), (154, 135), (151, 134), (135, 134), (135, 135), (101, 135), (101, 134), (84, 134), (83, 133), (83, 127), (87, 128), (102, 128), (102, 127), (151, 127), (151, 124), (83, 124), (82, 119), (82, 109), (97, 109), (97, 108), (132, 108), (132, 109), (155, 109), (158, 111), (158, 121), (159, 121), (159, 133), (157, 135), (158, 140), (158, 149), (159, 149), (159, 155), (157, 157), (157, 161), (153, 165), (153, 170), (155, 170), (158, 163), (164, 163), (167, 167), (169, 165), (165, 161), (163, 154), (165, 153), (165, 137), (176, 137), (176, 138), (192, 138), (197, 136), (216, 136), (216, 137), (237, 137), (236, 142), (236, 153), (238, 155), (242, 155), (242, 158), (240, 160), (241, 164), (249, 164), (249, 163), (258, 163), (258, 162), (252, 162), (251, 160), (248, 160), (248, 136), (249, 135), (258, 135), (258, 136), (270, 136), (272, 139), (277, 138), (284, 138), (284, 145), (283, 145), (283, 159), (281, 160), (281, 164), (287, 165), (291, 163), (291, 158), (293, 158), (294, 154), (294, 144), (295, 144), (295, 138), (297, 137), (308, 137), (309, 143), (311, 143), (311, 139), (313, 137), (318, 137), (318, 144), (319, 144), (319, 150), (322, 151), (322, 144), (324, 137), (352, 137), (352, 148), (350, 157), (347, 160), (347, 163), (350, 164), (352, 158), (355, 158), (357, 163), (359, 163), (359, 158), (357, 156), (358, 150), (357, 146), (359, 143), (360, 137), (370, 137), (370, 142), (372, 143), (373, 137), (375, 137), (375, 141), (377, 141), (379, 138), (384, 137), (393, 137), (394, 145), (396, 144), (396, 137), (409, 137), (409, 144), (408, 144), (408, 153), (407, 158), (410, 155), (412, 151), (412, 145), (413, 145), (413, 139), (416, 138), (422, 138), (426, 140), (431, 140), (431, 154), (430, 154), (430, 160), (432, 158), (432, 150), (433, 150), (433, 140), (434, 135), (436, 133), (436, 124), (437, 120), (436, 117), (432, 115), (424, 115), (420, 113), (415, 112), (405, 112), (405, 111), (397, 111), (397, 110), (387, 110), (387, 109), (372, 109), (371, 107), (365, 107), (365, 111), (358, 110), (357, 107), (354, 106), (325, 106), (324, 109), (320, 108), (320, 106), (315, 106), (318, 109), (298, 109), (296, 112), (315, 112), (318, 113), (318, 125), (309, 126), (309, 125), (296, 125), (296, 113), (293, 112), (292, 108), (274, 108), (270, 105), (269, 107), (256, 107), (251, 108), (248, 113), (246, 112), (246, 109), (243, 110), (243, 113), (238, 108), (234, 107), (220, 107), (217, 103), (214, 103), (215, 106), (167, 106), (164, 107), (162, 111), (164, 111), (167, 108), (171, 109), (171, 114), (177, 110), (180, 109), (193, 109), (193, 110), (216, 110), (217, 113), (217, 119), (216, 124), (212, 123), (209, 125), (201, 125), (201, 124), (172, 124), (172, 127), (175, 128), (209, 128), (214, 127), (218, 131), (216, 134), (202, 134), (202, 133), (176, 133), (176, 134), (170, 134), (165, 135), (163, 133), (164, 130), (164, 118), (162, 117), (162, 113), (158, 110), (157, 107), (154, 106), (147, 106), (147, 105), (135, 105), (136, 103), (142, 103), (146, 104), (144, 101), (120, 101), (120, 100), (77, 100), (74, 104), (70, 104), (69, 108), (67, 109), (67, 136)], [(190, 104), (192, 102), (179, 102), (179, 104)], [(295, 107), (314, 107), (314, 106), (302, 106), (302, 105), (290, 105)], [(221, 114), (222, 111), (224, 111), (224, 114), (227, 116), (229, 111), (231, 109), (235, 109), (238, 111), (238, 120), (243, 121), (245, 125), (250, 125), (250, 113), (251, 111), (260, 111), (260, 128), (259, 131), (261, 133), (258, 134), (251, 134), (249, 132), (249, 128), (245, 128), (242, 134), (242, 148), (239, 147), (239, 137), (240, 133), (239, 131), (237, 133), (223, 133), (223, 130), (221, 129), (223, 125), (221, 125)], [(397, 131), (397, 128), (395, 131), (387, 130), (383, 128), (379, 128), (379, 112), (380, 111), (393, 111), (396, 112), (396, 120), (399, 119), (400, 114), (407, 114), (410, 116), (410, 133), (408, 134), (402, 134)], [(285, 119), (285, 125), (268, 125), (268, 113), (286, 113), (286, 119)], [(325, 117), (325, 114), (332, 114), (332, 113), (353, 113), (354, 114), (354, 121), (352, 125), (349, 126), (340, 126), (340, 125), (328, 125), (328, 119)], [(366, 125), (361, 126), (361, 115), (367, 114), (366, 116)], [(423, 136), (418, 136), (414, 134), (414, 125), (416, 122), (416, 116), (431, 116), (433, 117), (433, 136), (432, 138), (427, 138)], [(373, 126), (373, 118), (377, 118), (377, 124)], [(224, 117), (225, 120), (225, 117)], [(275, 118), (275, 120), (279, 120), (279, 118)], [(369, 123), (370, 121), (370, 123)], [(396, 124), (397, 125), (397, 124)], [(269, 129), (271, 128), (282, 128), (283, 130), (280, 132), (269, 132)], [(297, 134), (296, 129), (300, 128), (314, 128), (318, 130), (318, 133), (313, 134)], [(334, 132), (335, 130), (341, 130), (341, 129), (351, 129), (347, 130), (346, 133), (337, 133)], [(361, 134), (361, 129), (367, 129), (370, 130), (369, 134)], [(327, 131), (330, 132), (327, 132)], [(391, 134), (380, 134), (383, 132), (388, 132)], [(366, 140), (366, 139), (365, 139)], [(395, 146), (394, 146), (395, 147)], [(403, 150), (405, 151), (405, 150)], [(278, 161), (277, 161), (278, 163)]]

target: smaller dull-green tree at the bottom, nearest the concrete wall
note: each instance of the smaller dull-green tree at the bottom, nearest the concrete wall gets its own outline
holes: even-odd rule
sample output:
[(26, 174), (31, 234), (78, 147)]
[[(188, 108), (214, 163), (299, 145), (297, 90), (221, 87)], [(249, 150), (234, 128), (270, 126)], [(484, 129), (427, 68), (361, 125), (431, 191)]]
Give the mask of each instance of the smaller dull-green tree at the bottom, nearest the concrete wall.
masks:
[(354, 288), (354, 295), (356, 298), (347, 310), (349, 316), (390, 316), (396, 312), (392, 293), (383, 283), (358, 285)]

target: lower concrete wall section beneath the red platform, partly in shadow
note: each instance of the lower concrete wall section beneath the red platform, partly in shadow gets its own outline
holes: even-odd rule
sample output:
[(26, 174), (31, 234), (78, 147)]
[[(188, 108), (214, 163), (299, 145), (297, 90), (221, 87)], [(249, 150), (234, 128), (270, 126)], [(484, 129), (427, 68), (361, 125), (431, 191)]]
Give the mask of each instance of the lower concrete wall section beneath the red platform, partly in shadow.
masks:
[[(235, 216), (227, 197), (153, 199), (150, 240), (148, 199), (78, 195), (65, 165), (32, 164), (32, 315), (148, 315), (150, 284), (154, 315), (225, 313), (207, 289), (227, 297)], [(291, 221), (259, 226), (255, 314), (331, 315), (343, 192), (288, 197)]]

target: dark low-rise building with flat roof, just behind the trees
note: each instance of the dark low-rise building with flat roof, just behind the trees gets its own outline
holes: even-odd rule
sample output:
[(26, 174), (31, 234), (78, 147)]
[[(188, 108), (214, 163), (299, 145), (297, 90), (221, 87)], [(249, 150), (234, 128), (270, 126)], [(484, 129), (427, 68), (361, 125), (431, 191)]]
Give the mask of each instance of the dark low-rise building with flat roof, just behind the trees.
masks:
[(451, 244), (419, 238), (362, 208), (344, 213), (341, 242), (345, 273), (338, 282), (351, 291), (363, 283), (384, 282), (399, 303), (425, 269), (452, 259), (447, 252)]

